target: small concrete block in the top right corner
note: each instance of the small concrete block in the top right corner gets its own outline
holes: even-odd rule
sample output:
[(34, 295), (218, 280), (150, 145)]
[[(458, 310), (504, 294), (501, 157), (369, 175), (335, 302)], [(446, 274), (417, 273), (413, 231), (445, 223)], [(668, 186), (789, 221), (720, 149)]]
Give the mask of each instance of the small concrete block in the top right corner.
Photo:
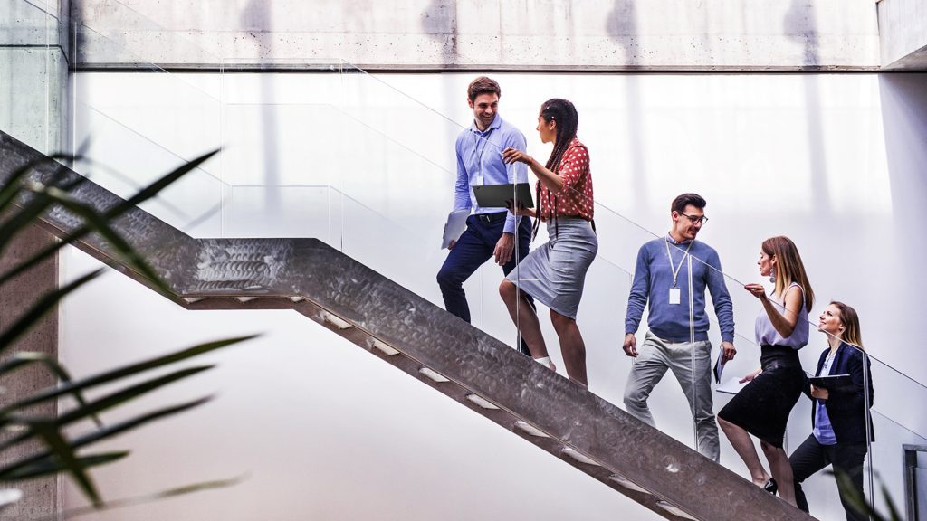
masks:
[(927, 70), (927, 2), (881, 0), (879, 38), (885, 70)]

